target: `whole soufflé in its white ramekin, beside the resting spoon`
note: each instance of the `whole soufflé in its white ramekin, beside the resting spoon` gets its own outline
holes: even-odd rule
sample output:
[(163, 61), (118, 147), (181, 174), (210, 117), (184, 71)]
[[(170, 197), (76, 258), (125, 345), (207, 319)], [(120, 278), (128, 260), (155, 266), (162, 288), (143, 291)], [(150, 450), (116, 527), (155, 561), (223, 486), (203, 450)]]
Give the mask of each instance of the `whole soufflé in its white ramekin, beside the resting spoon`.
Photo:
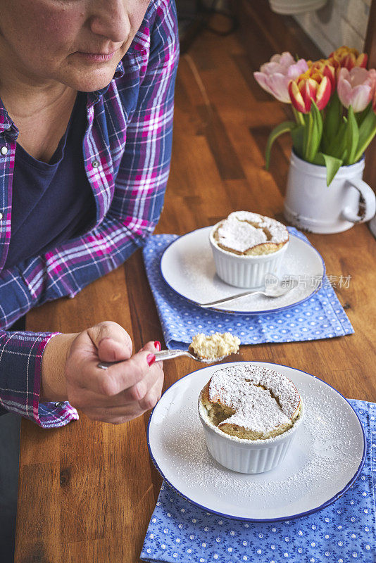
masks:
[(209, 237), (218, 276), (227, 284), (258, 287), (265, 274), (277, 274), (289, 243), (284, 224), (251, 213), (234, 211), (215, 224)]

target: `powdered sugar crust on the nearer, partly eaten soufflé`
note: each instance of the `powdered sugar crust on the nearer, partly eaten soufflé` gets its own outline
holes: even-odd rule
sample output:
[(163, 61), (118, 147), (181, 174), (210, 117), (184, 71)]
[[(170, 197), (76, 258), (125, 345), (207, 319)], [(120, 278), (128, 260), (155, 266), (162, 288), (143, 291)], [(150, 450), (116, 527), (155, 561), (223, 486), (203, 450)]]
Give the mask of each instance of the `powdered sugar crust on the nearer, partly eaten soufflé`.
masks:
[(211, 377), (209, 398), (236, 411), (226, 424), (237, 424), (265, 437), (289, 423), (301, 400), (290, 379), (257, 365), (218, 369)]

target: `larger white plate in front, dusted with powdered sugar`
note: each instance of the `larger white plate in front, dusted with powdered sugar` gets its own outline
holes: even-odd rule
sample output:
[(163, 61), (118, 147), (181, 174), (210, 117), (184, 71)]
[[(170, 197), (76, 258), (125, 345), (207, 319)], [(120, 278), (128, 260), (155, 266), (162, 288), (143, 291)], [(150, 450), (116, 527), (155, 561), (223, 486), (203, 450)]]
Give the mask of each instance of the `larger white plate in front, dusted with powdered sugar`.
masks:
[(332, 504), (363, 467), (365, 436), (356, 412), (338, 391), (310, 374), (251, 363), (292, 379), (304, 401), (303, 423), (282, 464), (270, 472), (248, 475), (222, 467), (208, 453), (197, 401), (218, 369), (214, 365), (182, 377), (154, 408), (148, 445), (158, 471), (195, 505), (228, 518), (293, 519)]

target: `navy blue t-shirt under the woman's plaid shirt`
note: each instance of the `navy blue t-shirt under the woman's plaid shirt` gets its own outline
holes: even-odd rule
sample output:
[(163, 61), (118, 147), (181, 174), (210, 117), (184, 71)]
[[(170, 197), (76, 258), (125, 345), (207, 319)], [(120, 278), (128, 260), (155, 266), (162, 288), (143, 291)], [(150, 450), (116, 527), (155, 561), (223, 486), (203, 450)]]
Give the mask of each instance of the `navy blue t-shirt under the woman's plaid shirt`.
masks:
[(43, 254), (94, 226), (95, 201), (82, 152), (86, 101), (87, 94), (78, 92), (68, 127), (49, 163), (16, 146), (11, 242), (4, 267)]

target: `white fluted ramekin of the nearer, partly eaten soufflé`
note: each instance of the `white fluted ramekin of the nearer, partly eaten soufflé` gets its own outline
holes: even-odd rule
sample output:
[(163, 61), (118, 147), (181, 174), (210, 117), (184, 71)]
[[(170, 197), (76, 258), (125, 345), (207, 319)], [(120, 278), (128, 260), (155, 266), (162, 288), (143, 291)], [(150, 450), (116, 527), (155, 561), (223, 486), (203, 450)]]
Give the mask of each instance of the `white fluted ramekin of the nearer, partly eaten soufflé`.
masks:
[(267, 440), (243, 440), (219, 430), (208, 420), (199, 399), (199, 417), (209, 452), (218, 463), (239, 473), (263, 473), (277, 467), (287, 455), (304, 415), (303, 402), (292, 428)]

